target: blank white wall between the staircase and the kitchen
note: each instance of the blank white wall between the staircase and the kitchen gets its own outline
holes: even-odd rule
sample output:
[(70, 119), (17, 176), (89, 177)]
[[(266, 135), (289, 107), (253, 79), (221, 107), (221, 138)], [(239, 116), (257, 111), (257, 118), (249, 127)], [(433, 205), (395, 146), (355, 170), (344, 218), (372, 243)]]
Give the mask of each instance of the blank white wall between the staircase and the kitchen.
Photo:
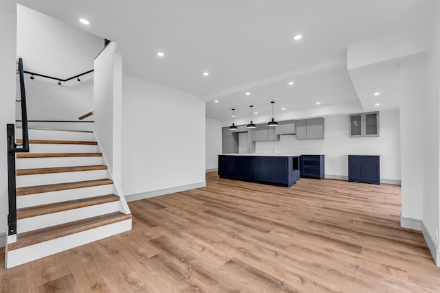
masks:
[[(122, 78), (122, 190), (135, 199), (205, 185), (205, 104), (130, 75)], [(129, 200), (133, 200), (129, 198)]]

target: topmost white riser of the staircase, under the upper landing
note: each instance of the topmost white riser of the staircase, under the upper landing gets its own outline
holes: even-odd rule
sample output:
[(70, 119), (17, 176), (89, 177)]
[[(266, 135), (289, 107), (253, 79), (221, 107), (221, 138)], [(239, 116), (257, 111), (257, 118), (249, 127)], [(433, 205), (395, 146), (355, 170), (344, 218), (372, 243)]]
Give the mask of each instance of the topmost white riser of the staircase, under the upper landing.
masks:
[[(16, 139), (22, 138), (21, 128), (15, 130)], [(56, 130), (41, 130), (30, 129), (29, 139), (54, 139), (56, 141), (94, 141), (92, 132), (78, 132), (78, 131), (56, 131)]]

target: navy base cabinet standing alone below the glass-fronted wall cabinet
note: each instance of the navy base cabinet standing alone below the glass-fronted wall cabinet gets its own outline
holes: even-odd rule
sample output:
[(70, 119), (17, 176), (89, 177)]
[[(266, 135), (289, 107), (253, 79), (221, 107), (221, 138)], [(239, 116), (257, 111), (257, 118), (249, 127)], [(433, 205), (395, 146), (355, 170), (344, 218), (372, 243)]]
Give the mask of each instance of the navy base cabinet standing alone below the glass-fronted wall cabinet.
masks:
[(380, 184), (379, 156), (349, 155), (349, 182)]

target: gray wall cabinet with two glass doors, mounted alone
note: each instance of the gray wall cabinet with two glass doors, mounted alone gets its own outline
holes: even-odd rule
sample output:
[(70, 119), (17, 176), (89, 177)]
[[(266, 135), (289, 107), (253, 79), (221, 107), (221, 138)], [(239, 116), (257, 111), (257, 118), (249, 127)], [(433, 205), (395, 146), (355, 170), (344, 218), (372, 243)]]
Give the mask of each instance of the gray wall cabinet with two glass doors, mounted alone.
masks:
[(349, 115), (350, 137), (378, 137), (379, 112)]

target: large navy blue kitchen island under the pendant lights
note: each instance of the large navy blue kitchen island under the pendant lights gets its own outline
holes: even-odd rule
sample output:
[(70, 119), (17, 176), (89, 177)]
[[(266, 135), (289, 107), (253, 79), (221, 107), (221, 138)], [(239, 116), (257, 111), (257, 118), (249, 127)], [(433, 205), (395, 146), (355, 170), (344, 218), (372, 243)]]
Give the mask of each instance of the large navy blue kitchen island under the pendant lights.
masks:
[(299, 155), (220, 154), (219, 176), (291, 187), (300, 179)]

